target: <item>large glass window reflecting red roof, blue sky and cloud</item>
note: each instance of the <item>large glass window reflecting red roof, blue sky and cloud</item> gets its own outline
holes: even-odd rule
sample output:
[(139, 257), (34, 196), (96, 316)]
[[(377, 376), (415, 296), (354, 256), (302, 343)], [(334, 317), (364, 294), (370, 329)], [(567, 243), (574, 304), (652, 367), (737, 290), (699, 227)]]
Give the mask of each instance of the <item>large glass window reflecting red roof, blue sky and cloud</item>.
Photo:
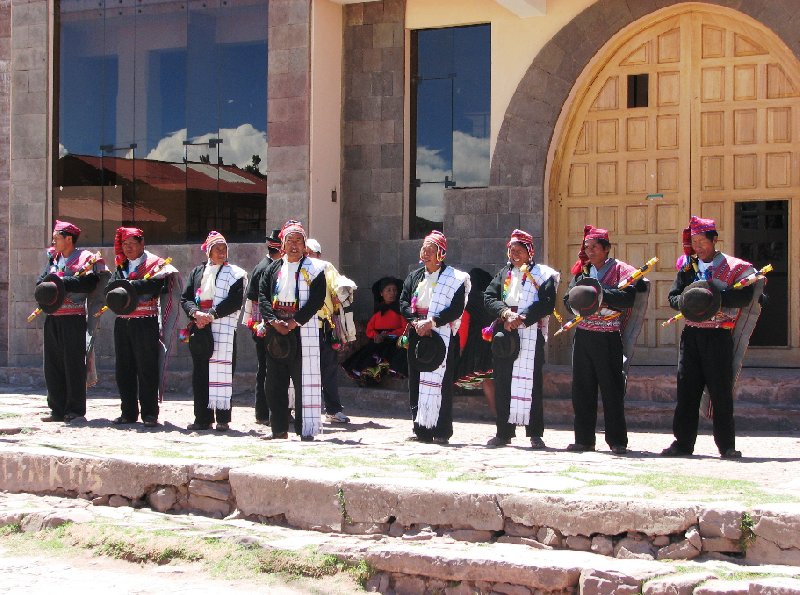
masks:
[(54, 218), (109, 245), (265, 233), (268, 0), (62, 0)]

